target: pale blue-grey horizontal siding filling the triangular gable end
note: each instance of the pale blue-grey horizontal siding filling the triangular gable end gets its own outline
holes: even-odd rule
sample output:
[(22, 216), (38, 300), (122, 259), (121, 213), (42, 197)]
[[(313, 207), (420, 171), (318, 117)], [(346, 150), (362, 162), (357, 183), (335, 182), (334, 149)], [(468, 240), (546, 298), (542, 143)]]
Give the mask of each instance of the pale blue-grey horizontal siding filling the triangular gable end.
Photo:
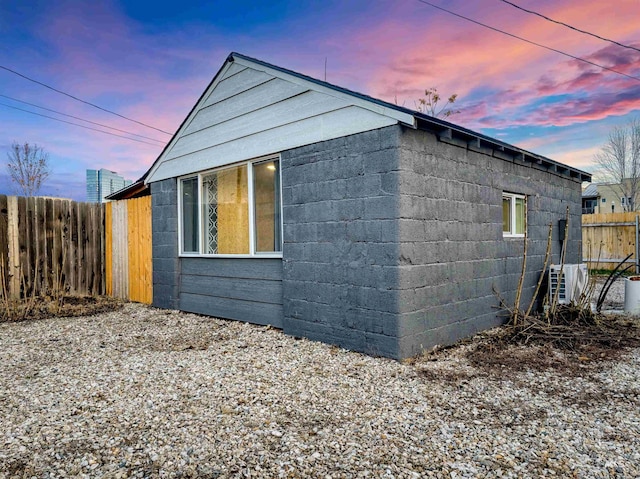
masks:
[(397, 123), (415, 126), (410, 114), (235, 58), (223, 66), (145, 182)]

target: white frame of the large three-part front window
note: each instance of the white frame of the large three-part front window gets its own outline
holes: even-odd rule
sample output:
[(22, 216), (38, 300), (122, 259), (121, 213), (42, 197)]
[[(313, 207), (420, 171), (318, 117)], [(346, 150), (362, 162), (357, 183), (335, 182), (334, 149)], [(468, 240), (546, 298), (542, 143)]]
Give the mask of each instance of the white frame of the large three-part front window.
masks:
[[(272, 252), (260, 252), (256, 251), (256, 226), (255, 226), (255, 201), (254, 201), (254, 181), (253, 181), (253, 165), (259, 163), (266, 163), (269, 161), (277, 161), (278, 162), (278, 194), (280, 195), (280, 213), (277, 215), (280, 218), (280, 251), (272, 251)], [(202, 209), (202, 198), (203, 198), (203, 177), (207, 176), (213, 172), (222, 171), (229, 168), (238, 168), (246, 166), (247, 168), (247, 202), (248, 202), (248, 220), (249, 220), (249, 253), (242, 254), (233, 254), (233, 253), (204, 253), (204, 238), (205, 238), (205, 227), (203, 221), (203, 209)], [(184, 180), (197, 178), (198, 180), (198, 251), (197, 252), (188, 252), (184, 251), (184, 238), (182, 230), (183, 230), (183, 218), (182, 218), (182, 208), (183, 208), (183, 191), (182, 185)], [(282, 258), (282, 249), (284, 244), (284, 221), (282, 215), (282, 160), (280, 155), (269, 155), (263, 156), (259, 158), (253, 158), (251, 160), (240, 161), (228, 165), (218, 166), (216, 168), (211, 168), (204, 171), (199, 171), (198, 173), (191, 173), (188, 175), (179, 176), (177, 178), (177, 194), (178, 194), (178, 257), (181, 258)]]

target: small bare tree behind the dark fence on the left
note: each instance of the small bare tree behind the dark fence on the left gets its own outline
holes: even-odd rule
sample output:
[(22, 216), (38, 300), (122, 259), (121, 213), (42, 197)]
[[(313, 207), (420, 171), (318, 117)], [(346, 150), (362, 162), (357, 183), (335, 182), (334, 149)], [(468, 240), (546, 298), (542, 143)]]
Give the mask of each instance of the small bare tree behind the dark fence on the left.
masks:
[(17, 142), (11, 144), (11, 151), (7, 153), (9, 161), (7, 169), (11, 181), (16, 185), (18, 194), (35, 196), (40, 191), (42, 183), (49, 177), (49, 154), (38, 145), (23, 145)]

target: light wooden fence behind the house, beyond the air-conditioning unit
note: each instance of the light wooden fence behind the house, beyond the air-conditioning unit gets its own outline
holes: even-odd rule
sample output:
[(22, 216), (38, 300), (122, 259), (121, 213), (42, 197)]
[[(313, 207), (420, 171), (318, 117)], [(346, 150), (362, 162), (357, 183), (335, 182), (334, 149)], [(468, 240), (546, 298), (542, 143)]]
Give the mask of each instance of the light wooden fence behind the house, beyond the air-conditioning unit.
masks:
[(637, 265), (638, 215), (640, 212), (582, 215), (582, 261), (589, 268), (613, 269), (632, 254), (627, 264)]

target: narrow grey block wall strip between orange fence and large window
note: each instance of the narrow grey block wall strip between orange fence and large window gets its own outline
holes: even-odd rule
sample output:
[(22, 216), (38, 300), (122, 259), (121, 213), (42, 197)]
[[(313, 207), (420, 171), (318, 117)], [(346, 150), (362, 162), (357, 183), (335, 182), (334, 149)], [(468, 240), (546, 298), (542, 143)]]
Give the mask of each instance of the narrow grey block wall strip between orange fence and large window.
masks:
[(153, 306), (178, 309), (178, 193), (176, 178), (150, 184), (153, 235)]

